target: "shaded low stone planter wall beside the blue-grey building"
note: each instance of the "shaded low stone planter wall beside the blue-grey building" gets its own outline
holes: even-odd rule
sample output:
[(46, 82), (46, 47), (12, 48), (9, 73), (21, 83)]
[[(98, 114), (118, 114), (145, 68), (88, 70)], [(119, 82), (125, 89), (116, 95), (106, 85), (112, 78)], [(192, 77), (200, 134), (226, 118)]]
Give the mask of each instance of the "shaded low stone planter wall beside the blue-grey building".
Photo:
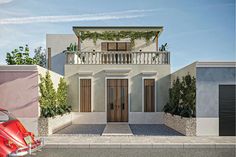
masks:
[(164, 114), (164, 124), (185, 136), (196, 136), (196, 118)]

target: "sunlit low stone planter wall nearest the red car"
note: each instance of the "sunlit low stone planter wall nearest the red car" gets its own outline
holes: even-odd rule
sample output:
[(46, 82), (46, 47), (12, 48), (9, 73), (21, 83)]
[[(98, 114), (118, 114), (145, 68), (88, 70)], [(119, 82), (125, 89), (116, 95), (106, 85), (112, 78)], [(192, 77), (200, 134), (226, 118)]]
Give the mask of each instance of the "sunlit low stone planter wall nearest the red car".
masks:
[(48, 136), (58, 130), (72, 124), (72, 114), (64, 114), (63, 116), (56, 116), (54, 118), (42, 118), (38, 120), (39, 136)]

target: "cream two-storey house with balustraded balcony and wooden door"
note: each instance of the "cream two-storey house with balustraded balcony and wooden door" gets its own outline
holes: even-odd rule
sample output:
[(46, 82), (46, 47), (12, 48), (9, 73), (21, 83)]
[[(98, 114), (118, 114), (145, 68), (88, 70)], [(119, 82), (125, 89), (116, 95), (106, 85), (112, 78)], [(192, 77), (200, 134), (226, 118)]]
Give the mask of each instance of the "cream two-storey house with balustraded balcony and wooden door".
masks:
[[(163, 27), (73, 27), (73, 31), (75, 35), (47, 35), (51, 70), (64, 74), (69, 84), (73, 123), (163, 123), (170, 84), (170, 53), (158, 50)], [(76, 52), (65, 51), (70, 43), (77, 45)]]

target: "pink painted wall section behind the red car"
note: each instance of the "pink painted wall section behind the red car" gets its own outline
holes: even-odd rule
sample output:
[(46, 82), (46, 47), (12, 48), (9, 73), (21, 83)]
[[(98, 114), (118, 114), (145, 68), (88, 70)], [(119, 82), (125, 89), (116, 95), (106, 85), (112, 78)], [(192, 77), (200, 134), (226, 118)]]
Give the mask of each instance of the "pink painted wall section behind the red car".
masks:
[(16, 117), (38, 116), (38, 72), (1, 71), (0, 107)]

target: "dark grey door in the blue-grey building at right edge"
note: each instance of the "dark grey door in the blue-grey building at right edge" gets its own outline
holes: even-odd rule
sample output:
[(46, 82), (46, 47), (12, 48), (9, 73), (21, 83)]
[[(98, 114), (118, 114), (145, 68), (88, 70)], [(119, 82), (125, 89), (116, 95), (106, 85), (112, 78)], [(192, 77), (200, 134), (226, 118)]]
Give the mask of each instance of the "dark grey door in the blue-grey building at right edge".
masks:
[(235, 136), (236, 85), (219, 86), (219, 135)]

